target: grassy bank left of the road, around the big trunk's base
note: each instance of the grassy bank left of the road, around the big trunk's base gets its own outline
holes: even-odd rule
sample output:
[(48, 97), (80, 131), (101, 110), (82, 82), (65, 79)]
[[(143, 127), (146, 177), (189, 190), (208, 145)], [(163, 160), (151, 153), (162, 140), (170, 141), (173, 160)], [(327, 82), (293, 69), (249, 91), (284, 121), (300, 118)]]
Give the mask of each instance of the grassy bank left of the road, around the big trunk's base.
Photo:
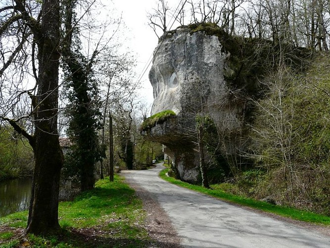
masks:
[[(15, 237), (25, 228), (28, 212), (0, 218), (0, 248), (18, 247)], [(60, 202), (60, 237), (28, 235), (25, 247), (32, 248), (102, 248), (147, 247), (152, 241), (143, 227), (145, 212), (134, 189), (115, 175), (115, 182), (100, 180), (93, 190), (81, 193), (73, 201)]]

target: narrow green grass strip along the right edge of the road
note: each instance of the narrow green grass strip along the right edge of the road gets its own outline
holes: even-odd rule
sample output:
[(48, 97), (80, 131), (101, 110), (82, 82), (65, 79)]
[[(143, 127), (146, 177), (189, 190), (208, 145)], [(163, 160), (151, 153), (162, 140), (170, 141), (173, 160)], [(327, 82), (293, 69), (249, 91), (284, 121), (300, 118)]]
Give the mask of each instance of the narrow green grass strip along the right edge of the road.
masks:
[(237, 196), (234, 194), (226, 193), (222, 191), (221, 189), (215, 188), (216, 185), (211, 186), (212, 189), (207, 189), (202, 186), (197, 186), (197, 185), (190, 185), (188, 183), (182, 182), (180, 180), (167, 177), (165, 174), (167, 173), (169, 169), (165, 169), (160, 172), (160, 177), (172, 184), (182, 186), (185, 188), (189, 188), (219, 199), (223, 199), (225, 201), (239, 204), (241, 206), (248, 206), (254, 209), (259, 209), (265, 212), (270, 212), (274, 214), (278, 214), (283, 217), (288, 217), (294, 220), (299, 220), (299, 221), (304, 221), (304, 222), (311, 222), (311, 223), (316, 223), (316, 224), (323, 224), (323, 225), (330, 225), (330, 217), (321, 215), (321, 214), (316, 214), (313, 212), (308, 212), (308, 211), (302, 211), (296, 208), (291, 208), (291, 207), (285, 207), (285, 206), (280, 206), (280, 205), (273, 205), (264, 201), (258, 201), (255, 199), (251, 198), (246, 198), (242, 196)]

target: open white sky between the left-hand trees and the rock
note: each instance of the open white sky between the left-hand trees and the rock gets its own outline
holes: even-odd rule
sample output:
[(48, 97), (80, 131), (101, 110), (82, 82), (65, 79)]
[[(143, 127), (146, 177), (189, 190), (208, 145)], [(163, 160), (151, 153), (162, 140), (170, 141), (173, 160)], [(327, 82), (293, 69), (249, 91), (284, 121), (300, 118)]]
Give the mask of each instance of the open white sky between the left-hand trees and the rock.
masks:
[[(180, 0), (167, 0), (170, 6), (175, 8)], [(157, 6), (157, 0), (114, 0), (116, 9), (122, 12), (123, 20), (130, 32), (129, 47), (137, 54), (137, 73), (141, 75), (144, 66), (152, 58), (154, 49), (158, 44), (158, 38), (153, 30), (147, 25), (147, 12)], [(173, 27), (176, 28), (176, 27)], [(150, 66), (141, 79), (141, 97), (148, 104), (153, 102), (152, 86), (148, 79)]]

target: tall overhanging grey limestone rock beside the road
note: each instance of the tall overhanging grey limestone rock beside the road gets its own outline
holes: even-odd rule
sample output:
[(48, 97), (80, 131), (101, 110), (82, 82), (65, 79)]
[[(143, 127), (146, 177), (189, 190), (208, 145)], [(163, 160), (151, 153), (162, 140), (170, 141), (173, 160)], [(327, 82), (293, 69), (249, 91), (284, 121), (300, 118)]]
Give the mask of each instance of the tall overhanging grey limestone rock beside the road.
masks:
[(177, 116), (144, 136), (166, 145), (165, 152), (181, 179), (196, 183), (196, 115), (208, 113), (221, 130), (240, 124), (240, 107), (229, 102), (230, 89), (224, 79), (230, 54), (223, 50), (218, 36), (202, 30), (192, 32), (188, 27), (172, 31), (154, 53), (149, 72), (154, 96), (151, 115), (172, 110)]

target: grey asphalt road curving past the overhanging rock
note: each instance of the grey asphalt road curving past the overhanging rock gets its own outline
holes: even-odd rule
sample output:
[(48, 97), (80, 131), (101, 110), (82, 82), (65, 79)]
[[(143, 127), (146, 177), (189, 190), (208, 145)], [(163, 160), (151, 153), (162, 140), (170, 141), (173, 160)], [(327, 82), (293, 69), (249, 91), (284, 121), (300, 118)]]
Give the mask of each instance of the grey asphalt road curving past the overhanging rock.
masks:
[(150, 192), (189, 248), (330, 248), (330, 237), (282, 222), (158, 177), (164, 167), (125, 171), (123, 176)]

